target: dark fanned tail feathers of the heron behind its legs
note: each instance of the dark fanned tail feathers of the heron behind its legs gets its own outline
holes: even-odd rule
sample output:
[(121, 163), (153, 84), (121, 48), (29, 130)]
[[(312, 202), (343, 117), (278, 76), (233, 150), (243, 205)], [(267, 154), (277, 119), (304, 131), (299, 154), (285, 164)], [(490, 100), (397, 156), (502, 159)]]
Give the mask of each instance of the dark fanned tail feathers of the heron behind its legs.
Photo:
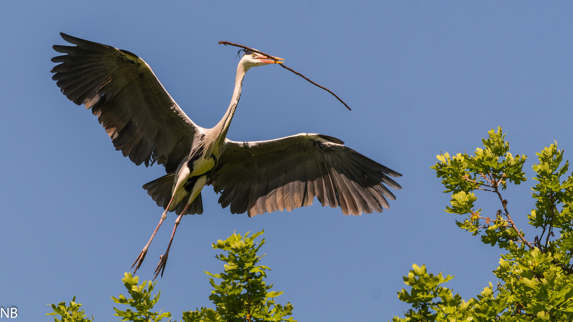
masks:
[[(159, 207), (167, 209), (167, 205), (171, 200), (171, 190), (173, 187), (173, 179), (175, 178), (175, 172), (166, 174), (161, 178), (157, 178), (151, 182), (143, 185), (143, 189), (147, 190), (147, 194), (151, 196), (153, 201), (157, 203)], [(187, 205), (187, 199), (183, 198), (177, 205), (175, 205), (175, 214), (180, 215), (181, 211)], [(184, 215), (187, 214), (202, 214), (203, 213), (203, 199), (201, 198), (201, 193), (195, 198), (191, 205), (187, 208)]]

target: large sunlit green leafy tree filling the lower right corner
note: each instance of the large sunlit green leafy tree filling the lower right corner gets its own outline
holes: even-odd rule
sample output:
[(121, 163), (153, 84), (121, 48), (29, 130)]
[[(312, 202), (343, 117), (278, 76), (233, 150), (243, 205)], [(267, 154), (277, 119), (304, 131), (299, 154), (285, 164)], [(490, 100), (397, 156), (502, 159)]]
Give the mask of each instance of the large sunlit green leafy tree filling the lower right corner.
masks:
[[(533, 165), (537, 183), (532, 188), (536, 200), (535, 209), (527, 217), (529, 225), (541, 230), (533, 242), (527, 241), (508, 211), (508, 201), (502, 191), (508, 182), (520, 184), (527, 180), (523, 172), (525, 155), (515, 158), (509, 152), (509, 143), (504, 140), (501, 127), (488, 132), (482, 139), (484, 149), (477, 148), (475, 155), (466, 153), (450, 157), (446, 152), (437, 156), (432, 167), (446, 187), (445, 193), (453, 192), (451, 207), (446, 211), (454, 214), (469, 214), (457, 225), (473, 235), (482, 235), (482, 242), (498, 244), (507, 250), (501, 254), (499, 266), (493, 272), (501, 280), (494, 289), (490, 283), (476, 299), (461, 300), (450, 289), (438, 286), (447, 282), (442, 275), (427, 274), (425, 266), (414, 265), (407, 285), (411, 294), (423, 297), (406, 297), (405, 289), (398, 298), (413, 304), (405, 313), (405, 319), (394, 317), (395, 322), (405, 321), (571, 321), (573, 320), (573, 174), (562, 180), (568, 171), (568, 161), (563, 164), (563, 151), (557, 143), (537, 153), (539, 163)], [(562, 166), (563, 164), (563, 166)], [(481, 214), (474, 203), (474, 191), (494, 193), (501, 202), (495, 219)], [(485, 221), (485, 223), (484, 223)], [(559, 234), (559, 238), (552, 240)], [(526, 247), (527, 246), (527, 249)], [(411, 280), (411, 275), (419, 281)], [(448, 276), (449, 277), (449, 276)], [(437, 300), (437, 299), (441, 300)], [(429, 308), (429, 309), (428, 309)]]

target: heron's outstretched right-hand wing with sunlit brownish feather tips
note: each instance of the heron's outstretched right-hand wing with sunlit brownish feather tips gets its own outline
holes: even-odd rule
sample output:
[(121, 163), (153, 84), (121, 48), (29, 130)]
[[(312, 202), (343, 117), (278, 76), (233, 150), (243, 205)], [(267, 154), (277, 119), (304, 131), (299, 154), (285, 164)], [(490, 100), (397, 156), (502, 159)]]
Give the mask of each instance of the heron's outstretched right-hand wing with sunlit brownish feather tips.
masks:
[(312, 205), (339, 207), (345, 215), (382, 212), (384, 184), (402, 189), (389, 176), (402, 176), (331, 136), (300, 133), (260, 142), (225, 140), (208, 184), (221, 192), (219, 203), (249, 217)]

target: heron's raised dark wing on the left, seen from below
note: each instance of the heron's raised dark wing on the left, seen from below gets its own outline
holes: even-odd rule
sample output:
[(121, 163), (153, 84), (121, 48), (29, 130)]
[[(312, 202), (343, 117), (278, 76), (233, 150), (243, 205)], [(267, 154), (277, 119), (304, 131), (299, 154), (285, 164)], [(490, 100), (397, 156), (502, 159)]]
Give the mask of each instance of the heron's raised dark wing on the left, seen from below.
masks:
[(116, 150), (137, 164), (173, 172), (189, 155), (198, 127), (179, 108), (149, 65), (135, 54), (61, 33), (76, 46), (54, 45), (63, 56), (52, 69), (62, 93), (92, 108)]

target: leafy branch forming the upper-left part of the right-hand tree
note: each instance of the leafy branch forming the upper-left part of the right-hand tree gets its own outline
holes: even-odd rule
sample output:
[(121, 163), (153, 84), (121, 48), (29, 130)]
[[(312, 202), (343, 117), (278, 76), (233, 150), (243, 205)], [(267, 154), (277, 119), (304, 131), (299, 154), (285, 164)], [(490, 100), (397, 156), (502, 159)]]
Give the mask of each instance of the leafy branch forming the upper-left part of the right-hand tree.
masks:
[[(450, 157), (448, 152), (437, 155), (437, 162), (433, 167), (438, 177), (442, 178), (442, 184), (446, 187), (445, 193), (453, 192), (452, 207), (446, 207), (446, 211), (454, 214), (468, 214), (469, 218), (464, 222), (457, 222), (458, 226), (478, 234), (485, 229), (486, 235), (482, 237), (492, 243), (500, 243), (500, 248), (507, 245), (508, 241), (521, 242), (533, 248), (533, 245), (524, 238), (523, 232), (517, 228), (508, 210), (507, 199), (504, 199), (501, 191), (507, 189), (507, 183), (520, 184), (527, 180), (523, 172), (523, 164), (527, 159), (525, 155), (516, 155), (509, 152), (509, 143), (504, 140), (505, 134), (501, 127), (497, 132), (493, 129), (488, 132), (489, 138), (482, 139), (484, 148), (476, 148), (475, 156), (467, 153), (458, 153)], [(503, 160), (500, 161), (500, 158)], [(488, 187), (490, 189), (486, 189)], [(473, 210), (473, 203), (477, 197), (472, 191), (482, 190), (494, 193), (501, 202), (502, 209), (497, 211), (496, 219), (483, 217), (480, 210)], [(503, 218), (505, 217), (505, 218)], [(481, 225), (480, 219), (485, 219), (485, 225)], [(490, 222), (493, 225), (490, 225)], [(508, 230), (510, 228), (511, 230)], [(497, 236), (499, 238), (495, 238)]]

